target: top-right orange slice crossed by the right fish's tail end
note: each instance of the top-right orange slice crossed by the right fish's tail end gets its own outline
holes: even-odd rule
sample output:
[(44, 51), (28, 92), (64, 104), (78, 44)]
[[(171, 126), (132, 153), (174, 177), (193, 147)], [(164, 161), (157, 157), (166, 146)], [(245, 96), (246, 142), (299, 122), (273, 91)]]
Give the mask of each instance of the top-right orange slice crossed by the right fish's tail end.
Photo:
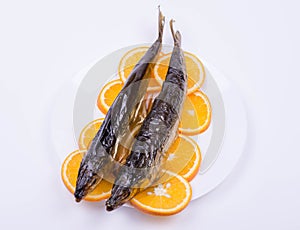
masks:
[[(199, 89), (205, 80), (205, 70), (202, 62), (192, 53), (184, 52), (186, 72), (188, 75), (187, 94)], [(160, 57), (154, 67), (154, 77), (160, 85), (163, 84), (169, 67), (171, 53)]]

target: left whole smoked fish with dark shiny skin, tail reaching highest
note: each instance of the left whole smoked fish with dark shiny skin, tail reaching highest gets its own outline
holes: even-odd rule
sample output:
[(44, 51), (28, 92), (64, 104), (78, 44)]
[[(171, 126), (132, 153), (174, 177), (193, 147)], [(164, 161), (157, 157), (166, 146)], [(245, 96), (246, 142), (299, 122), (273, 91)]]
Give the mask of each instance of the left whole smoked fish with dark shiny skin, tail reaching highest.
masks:
[(81, 161), (74, 193), (77, 202), (102, 180), (107, 165), (113, 161), (118, 138), (127, 132), (131, 114), (139, 107), (146, 93), (149, 71), (161, 50), (164, 22), (165, 18), (159, 10), (158, 38), (135, 65)]

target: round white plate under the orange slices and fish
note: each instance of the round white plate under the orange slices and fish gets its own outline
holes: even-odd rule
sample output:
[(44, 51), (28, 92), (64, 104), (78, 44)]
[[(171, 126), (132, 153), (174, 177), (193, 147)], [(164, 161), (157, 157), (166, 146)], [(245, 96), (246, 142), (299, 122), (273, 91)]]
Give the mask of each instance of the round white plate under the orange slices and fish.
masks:
[[(57, 93), (50, 127), (51, 144), (55, 147), (58, 164), (77, 149), (81, 129), (90, 121), (104, 116), (96, 108), (99, 90), (116, 76), (118, 60), (134, 47), (117, 50), (93, 62)], [(246, 112), (236, 87), (216, 68), (200, 59), (206, 69), (202, 90), (211, 102), (212, 123), (206, 132), (194, 137), (203, 161), (200, 172), (191, 182), (192, 199), (216, 188), (231, 172), (243, 152), (247, 134)]]

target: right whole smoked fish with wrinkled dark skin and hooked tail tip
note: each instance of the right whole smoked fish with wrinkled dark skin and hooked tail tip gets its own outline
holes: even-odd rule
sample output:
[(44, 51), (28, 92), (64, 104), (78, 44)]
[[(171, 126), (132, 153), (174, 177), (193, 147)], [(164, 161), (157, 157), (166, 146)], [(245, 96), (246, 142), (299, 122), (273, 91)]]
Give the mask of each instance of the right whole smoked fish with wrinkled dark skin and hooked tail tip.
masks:
[(170, 28), (174, 48), (166, 79), (136, 136), (125, 165), (115, 179), (111, 196), (106, 201), (108, 211), (121, 206), (157, 180), (161, 166), (168, 157), (166, 152), (177, 135), (187, 91), (187, 75), (181, 35), (178, 31), (174, 33), (173, 20), (170, 21)]

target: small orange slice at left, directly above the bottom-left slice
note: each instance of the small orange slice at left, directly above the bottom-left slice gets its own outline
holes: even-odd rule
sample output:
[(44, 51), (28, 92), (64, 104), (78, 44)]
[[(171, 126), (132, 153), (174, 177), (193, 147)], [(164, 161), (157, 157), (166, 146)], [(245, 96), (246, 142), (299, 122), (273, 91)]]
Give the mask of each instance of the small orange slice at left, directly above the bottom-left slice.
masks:
[(96, 136), (100, 126), (102, 125), (104, 118), (99, 118), (97, 120), (91, 121), (88, 123), (80, 133), (78, 140), (78, 147), (81, 150), (88, 149), (91, 141)]

